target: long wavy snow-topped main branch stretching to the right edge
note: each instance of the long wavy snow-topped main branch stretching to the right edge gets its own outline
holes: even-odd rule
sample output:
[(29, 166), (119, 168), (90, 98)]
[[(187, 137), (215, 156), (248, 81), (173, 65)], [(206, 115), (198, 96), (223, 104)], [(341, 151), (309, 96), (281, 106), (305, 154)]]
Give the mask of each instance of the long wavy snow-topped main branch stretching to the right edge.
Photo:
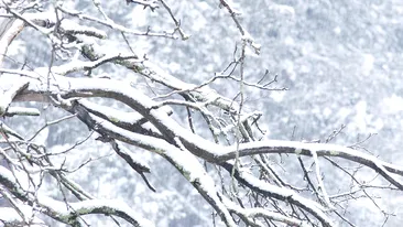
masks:
[[(221, 145), (204, 140), (196, 134), (188, 133), (186, 129), (170, 118), (165, 112), (155, 109), (154, 107), (157, 106), (157, 102), (151, 100), (148, 96), (124, 83), (104, 78), (57, 77), (56, 80), (57, 86), (53, 88), (53, 94), (59, 94), (64, 98), (105, 97), (122, 101), (152, 122), (162, 134), (171, 140), (175, 137), (179, 138), (186, 149), (206, 161), (219, 163), (236, 158), (236, 147), (222, 148)], [(46, 89), (46, 86), (43, 84), (41, 88), (41, 84), (31, 82), (25, 91), (39, 95)], [(338, 156), (364, 164), (380, 173), (397, 188), (403, 188), (403, 184), (390, 174), (396, 173), (403, 175), (402, 167), (381, 162), (374, 156), (340, 145), (270, 140), (242, 143), (239, 145), (238, 150), (239, 156), (261, 153), (295, 153), (312, 155), (312, 151), (316, 151), (318, 156)]]

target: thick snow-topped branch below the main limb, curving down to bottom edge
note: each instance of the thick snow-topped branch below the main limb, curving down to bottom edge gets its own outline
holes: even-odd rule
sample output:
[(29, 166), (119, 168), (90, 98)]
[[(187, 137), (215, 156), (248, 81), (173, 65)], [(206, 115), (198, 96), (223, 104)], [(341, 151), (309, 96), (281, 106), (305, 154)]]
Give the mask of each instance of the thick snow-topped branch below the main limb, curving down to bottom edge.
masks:
[(77, 114), (80, 120), (90, 129), (100, 133), (105, 141), (107, 141), (106, 138), (117, 139), (164, 156), (196, 187), (206, 201), (211, 204), (227, 226), (236, 226), (228, 210), (221, 204), (219, 197), (217, 197), (213, 180), (203, 170), (203, 166), (198, 163), (197, 159), (188, 151), (183, 151), (162, 139), (120, 129), (109, 121), (101, 120), (100, 118), (86, 112), (85, 109), (79, 106), (74, 105), (72, 111)]

